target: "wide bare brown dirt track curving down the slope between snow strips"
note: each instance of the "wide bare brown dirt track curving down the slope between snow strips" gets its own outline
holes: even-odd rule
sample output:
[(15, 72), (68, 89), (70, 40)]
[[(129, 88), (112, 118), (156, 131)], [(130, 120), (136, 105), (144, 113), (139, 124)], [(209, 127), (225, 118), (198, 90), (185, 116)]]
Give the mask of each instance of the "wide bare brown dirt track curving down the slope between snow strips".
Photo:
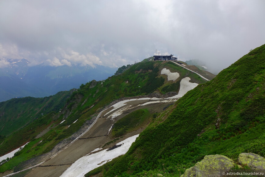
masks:
[[(162, 101), (163, 99), (161, 99)], [(157, 100), (152, 104), (152, 110), (151, 112), (161, 112), (164, 107), (167, 107), (168, 105), (172, 104), (176, 99), (171, 99), (167, 103), (157, 103)], [(150, 102), (149, 99), (137, 99), (126, 102), (125, 105), (122, 105), (116, 109), (108, 108), (104, 111), (102, 111), (101, 115), (97, 118), (97, 121), (94, 123), (94, 125), (87, 131), (84, 135), (79, 137), (74, 143), (72, 143), (70, 146), (59, 152), (55, 157), (49, 159), (48, 161), (42, 163), (41, 165), (32, 168), (30, 172), (25, 175), (26, 177), (56, 177), (62, 175), (62, 173), (71, 166), (72, 163), (74, 163), (76, 160), (78, 160), (80, 157), (83, 157), (84, 155), (89, 154), (91, 151), (93, 151), (96, 148), (102, 148), (105, 143), (111, 141), (111, 135), (108, 135), (108, 131), (117, 120), (124, 117), (125, 115), (129, 114), (130, 112), (133, 112), (134, 110), (143, 109), (150, 107), (150, 105), (143, 105), (144, 103)], [(113, 113), (115, 114), (116, 111), (123, 110), (125, 107), (130, 107), (130, 109), (126, 109), (122, 112), (122, 114), (118, 115), (115, 118), (111, 118), (111, 115)], [(106, 114), (108, 113), (108, 114)], [(106, 114), (106, 115), (105, 115)], [(147, 126), (147, 125), (146, 125)], [(139, 134), (143, 129), (146, 127), (142, 127), (139, 130), (135, 132), (131, 132), (127, 135), (125, 135), (123, 138), (119, 139), (115, 143), (112, 143), (104, 149), (111, 147), (112, 145), (130, 137), (136, 134)]]

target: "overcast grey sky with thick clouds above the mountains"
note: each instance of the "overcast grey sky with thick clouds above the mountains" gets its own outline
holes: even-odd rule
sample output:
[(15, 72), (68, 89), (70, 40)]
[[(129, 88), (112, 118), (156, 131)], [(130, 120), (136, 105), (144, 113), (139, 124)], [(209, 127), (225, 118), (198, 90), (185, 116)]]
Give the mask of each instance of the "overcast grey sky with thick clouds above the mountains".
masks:
[(160, 54), (220, 71), (265, 43), (264, 0), (1, 0), (6, 58), (121, 67)]

